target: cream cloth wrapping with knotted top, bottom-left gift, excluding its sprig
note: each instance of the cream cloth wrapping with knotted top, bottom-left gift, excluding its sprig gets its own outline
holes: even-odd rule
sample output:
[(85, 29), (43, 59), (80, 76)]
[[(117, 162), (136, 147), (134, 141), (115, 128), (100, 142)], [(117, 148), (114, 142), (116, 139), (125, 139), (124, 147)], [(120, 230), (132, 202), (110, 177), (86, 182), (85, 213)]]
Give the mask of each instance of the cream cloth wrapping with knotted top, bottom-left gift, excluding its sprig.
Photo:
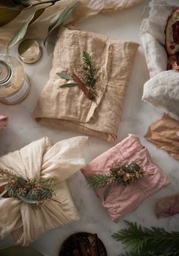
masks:
[(0, 158), (0, 168), (13, 170), (24, 178), (52, 181), (55, 200), (60, 202), (49, 200), (34, 209), (15, 198), (3, 198), (0, 238), (11, 233), (17, 244), (28, 245), (42, 233), (79, 219), (66, 180), (84, 165), (81, 148), (85, 142), (86, 137), (79, 136), (53, 145), (46, 137)]

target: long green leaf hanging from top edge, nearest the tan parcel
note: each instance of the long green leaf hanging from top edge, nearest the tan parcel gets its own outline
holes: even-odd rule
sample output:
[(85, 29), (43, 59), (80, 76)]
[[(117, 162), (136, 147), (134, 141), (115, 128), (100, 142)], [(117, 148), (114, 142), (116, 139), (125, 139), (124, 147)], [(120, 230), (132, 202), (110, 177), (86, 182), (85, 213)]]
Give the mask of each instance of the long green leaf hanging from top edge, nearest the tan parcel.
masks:
[(77, 3), (77, 0), (72, 2), (71, 5), (69, 5), (67, 8), (64, 9), (63, 13), (60, 15), (60, 17), (52, 24), (49, 26), (49, 33), (44, 40), (44, 45), (46, 45), (46, 40), (49, 37), (50, 34), (52, 34), (52, 31), (54, 31), (57, 27), (59, 27), (71, 14), (71, 11), (73, 11), (74, 5)]

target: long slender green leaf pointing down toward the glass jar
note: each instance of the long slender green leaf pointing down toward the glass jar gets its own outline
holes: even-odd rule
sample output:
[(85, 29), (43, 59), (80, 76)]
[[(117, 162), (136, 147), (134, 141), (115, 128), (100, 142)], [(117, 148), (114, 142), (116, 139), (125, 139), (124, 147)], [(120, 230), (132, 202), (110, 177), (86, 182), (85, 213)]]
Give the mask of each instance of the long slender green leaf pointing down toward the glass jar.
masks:
[(29, 25), (32, 24), (33, 21), (36, 21), (36, 19), (39, 18), (39, 16), (43, 13), (45, 9), (46, 7), (41, 8), (39, 10), (36, 10), (33, 14), (30, 15), (30, 18), (27, 20), (24, 26), (19, 30), (19, 32), (15, 35), (15, 37), (13, 37), (11, 41), (8, 43), (7, 52), (12, 46), (14, 46), (17, 42), (19, 42), (21, 39), (24, 38)]

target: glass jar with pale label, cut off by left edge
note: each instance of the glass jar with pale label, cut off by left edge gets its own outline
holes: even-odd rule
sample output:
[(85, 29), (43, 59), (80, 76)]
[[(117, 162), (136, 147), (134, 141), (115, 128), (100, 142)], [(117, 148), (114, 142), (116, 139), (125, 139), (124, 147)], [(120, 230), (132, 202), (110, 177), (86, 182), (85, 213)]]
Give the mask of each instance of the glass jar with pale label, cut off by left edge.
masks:
[(30, 91), (30, 81), (20, 62), (6, 54), (0, 54), (0, 101), (16, 104), (23, 101)]

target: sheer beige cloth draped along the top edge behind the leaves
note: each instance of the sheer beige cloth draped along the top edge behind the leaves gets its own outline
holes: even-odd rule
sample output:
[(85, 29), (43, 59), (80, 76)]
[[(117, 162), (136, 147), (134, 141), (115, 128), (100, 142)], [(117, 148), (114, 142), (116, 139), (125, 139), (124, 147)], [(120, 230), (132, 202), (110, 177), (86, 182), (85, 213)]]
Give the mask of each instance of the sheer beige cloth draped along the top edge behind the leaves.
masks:
[[(125, 8), (132, 8), (135, 5), (139, 5), (143, 1), (144, 0), (78, 0), (71, 18), (69, 18), (66, 23), (77, 24), (89, 16), (98, 14), (101, 11), (120, 11)], [(64, 8), (67, 8), (72, 2), (74, 2), (74, 0), (59, 1), (56, 2), (55, 5), (46, 8), (44, 13), (30, 25), (26, 37), (44, 39), (48, 34), (48, 27), (55, 22), (61, 12), (64, 11)], [(50, 4), (36, 5), (33, 8), (27, 8), (24, 11), (21, 11), (13, 21), (0, 27), (0, 46), (7, 44), (8, 41), (17, 34), (34, 11), (48, 5)]]

